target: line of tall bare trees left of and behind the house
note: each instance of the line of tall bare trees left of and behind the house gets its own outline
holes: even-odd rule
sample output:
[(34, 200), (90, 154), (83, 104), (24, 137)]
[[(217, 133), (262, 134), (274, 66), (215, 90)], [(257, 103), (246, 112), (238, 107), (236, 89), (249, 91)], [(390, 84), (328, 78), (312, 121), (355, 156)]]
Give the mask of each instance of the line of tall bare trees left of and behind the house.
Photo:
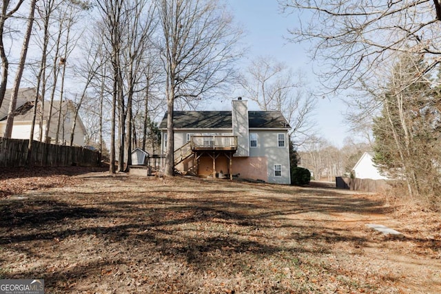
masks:
[[(28, 23), (28, 32), (19, 30), (23, 23)], [(315, 103), (302, 87), (302, 76), (269, 56), (240, 73), (242, 30), (220, 0), (9, 0), (3, 1), (0, 33), (0, 98), (8, 74), (24, 70), (27, 85), (37, 89), (34, 103), (38, 95), (41, 103), (49, 103), (42, 105), (49, 108), (46, 126), (36, 128), (40, 140), (48, 139), (49, 125), (63, 128), (61, 116), (51, 121), (52, 111), (57, 103), (60, 108), (63, 100), (72, 99), (75, 117), (81, 114), (88, 129), (87, 144), (96, 143), (99, 151), (110, 146), (111, 173), (127, 171), (134, 147), (158, 151), (158, 115), (167, 111), (165, 175), (172, 175), (174, 109), (196, 109), (209, 99), (225, 99), (235, 87), (242, 86), (261, 109), (282, 111), (297, 145), (311, 128)], [(10, 68), (9, 59), (17, 61), (12, 52), (20, 39), (30, 54), (21, 54), (18, 65)], [(265, 63), (254, 68), (261, 61)], [(15, 93), (20, 81), (13, 83)], [(263, 91), (254, 92), (256, 87)], [(12, 111), (14, 98), (11, 101)], [(37, 107), (33, 120), (30, 138), (35, 122), (43, 122)], [(13, 116), (8, 116), (6, 136), (12, 123)]]

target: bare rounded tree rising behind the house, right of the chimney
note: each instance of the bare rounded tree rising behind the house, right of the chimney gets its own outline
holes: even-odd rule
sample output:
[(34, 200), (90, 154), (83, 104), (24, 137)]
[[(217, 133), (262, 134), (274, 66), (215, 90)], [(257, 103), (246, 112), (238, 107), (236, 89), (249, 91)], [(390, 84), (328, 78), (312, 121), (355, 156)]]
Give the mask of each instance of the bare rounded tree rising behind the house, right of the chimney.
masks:
[(300, 72), (294, 74), (284, 63), (270, 56), (260, 56), (247, 67), (240, 85), (247, 98), (260, 109), (282, 112), (291, 125), (290, 135), (295, 145), (301, 145), (312, 135), (312, 116), (317, 103)]

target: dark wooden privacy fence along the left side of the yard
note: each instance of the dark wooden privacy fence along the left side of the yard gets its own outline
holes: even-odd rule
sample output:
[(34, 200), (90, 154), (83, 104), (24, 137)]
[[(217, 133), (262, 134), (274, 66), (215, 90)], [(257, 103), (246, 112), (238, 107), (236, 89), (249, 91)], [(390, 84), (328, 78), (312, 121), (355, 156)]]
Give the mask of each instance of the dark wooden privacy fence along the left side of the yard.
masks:
[[(24, 167), (28, 157), (29, 140), (0, 138), (0, 167)], [(46, 156), (45, 156), (46, 154)], [(101, 156), (98, 151), (83, 147), (53, 145), (33, 141), (30, 165), (37, 167), (96, 167)]]

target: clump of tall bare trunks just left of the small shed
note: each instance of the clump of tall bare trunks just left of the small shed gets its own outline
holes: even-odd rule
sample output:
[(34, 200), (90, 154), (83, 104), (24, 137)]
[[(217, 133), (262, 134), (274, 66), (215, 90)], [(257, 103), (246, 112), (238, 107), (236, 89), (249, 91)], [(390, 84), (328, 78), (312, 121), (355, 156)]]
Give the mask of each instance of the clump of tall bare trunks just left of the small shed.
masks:
[[(115, 162), (116, 126), (119, 129), (119, 171), (127, 171), (132, 149), (134, 99), (145, 92), (145, 59), (152, 49), (153, 8), (147, 0), (99, 1), (106, 62), (112, 76), (112, 134), (110, 168)], [(103, 67), (104, 68), (104, 67)], [(117, 121), (116, 121), (117, 118)], [(112, 162), (113, 161), (113, 162)], [(125, 165), (125, 163), (127, 165)]]

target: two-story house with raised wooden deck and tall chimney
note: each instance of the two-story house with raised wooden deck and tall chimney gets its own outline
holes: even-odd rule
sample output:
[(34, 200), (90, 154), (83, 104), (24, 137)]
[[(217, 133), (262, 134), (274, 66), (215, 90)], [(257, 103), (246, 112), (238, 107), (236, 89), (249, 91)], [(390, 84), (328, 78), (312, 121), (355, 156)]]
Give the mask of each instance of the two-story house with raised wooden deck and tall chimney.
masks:
[[(167, 114), (161, 125), (167, 147)], [(290, 127), (280, 112), (248, 111), (232, 101), (232, 111), (174, 112), (174, 160), (178, 171), (197, 176), (239, 176), (290, 184)]]

